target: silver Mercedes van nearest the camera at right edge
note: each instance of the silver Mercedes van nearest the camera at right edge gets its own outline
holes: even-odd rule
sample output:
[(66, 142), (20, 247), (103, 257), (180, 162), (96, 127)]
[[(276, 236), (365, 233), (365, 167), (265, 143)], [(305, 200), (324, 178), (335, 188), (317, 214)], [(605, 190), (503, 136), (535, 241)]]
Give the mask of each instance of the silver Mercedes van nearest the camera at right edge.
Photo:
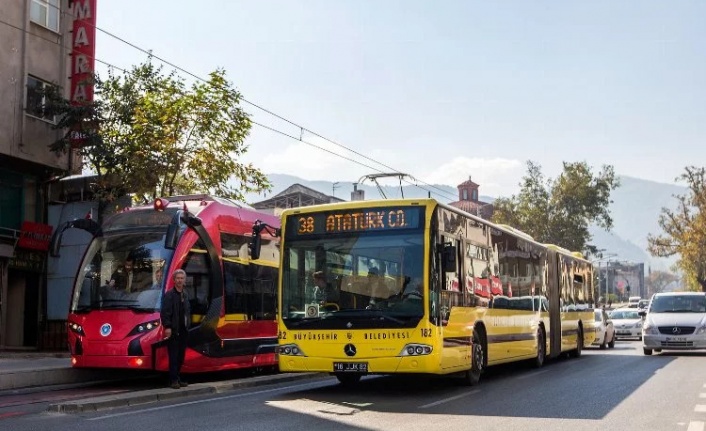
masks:
[(655, 293), (642, 326), (642, 348), (652, 351), (706, 349), (706, 293)]

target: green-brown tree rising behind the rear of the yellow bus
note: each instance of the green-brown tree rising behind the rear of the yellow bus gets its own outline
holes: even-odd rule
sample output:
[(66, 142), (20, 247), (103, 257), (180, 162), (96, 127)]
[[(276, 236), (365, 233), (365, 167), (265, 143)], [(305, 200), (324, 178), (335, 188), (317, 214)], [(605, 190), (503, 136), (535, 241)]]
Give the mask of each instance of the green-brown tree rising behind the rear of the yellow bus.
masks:
[(603, 166), (594, 176), (586, 162), (563, 163), (556, 179), (545, 179), (541, 167), (527, 162), (520, 193), (493, 202), (492, 220), (531, 235), (535, 240), (595, 255), (588, 228), (613, 227), (610, 193), (620, 185), (613, 167)]

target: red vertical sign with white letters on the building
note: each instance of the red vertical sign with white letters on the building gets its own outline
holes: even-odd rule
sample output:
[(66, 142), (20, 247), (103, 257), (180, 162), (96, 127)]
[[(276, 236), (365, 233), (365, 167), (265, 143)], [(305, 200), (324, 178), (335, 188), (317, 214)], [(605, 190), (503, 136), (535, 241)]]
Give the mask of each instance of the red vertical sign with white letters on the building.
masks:
[[(71, 103), (93, 101), (93, 70), (96, 56), (96, 0), (70, 0), (73, 28), (71, 38)], [(72, 141), (80, 143), (80, 130)]]

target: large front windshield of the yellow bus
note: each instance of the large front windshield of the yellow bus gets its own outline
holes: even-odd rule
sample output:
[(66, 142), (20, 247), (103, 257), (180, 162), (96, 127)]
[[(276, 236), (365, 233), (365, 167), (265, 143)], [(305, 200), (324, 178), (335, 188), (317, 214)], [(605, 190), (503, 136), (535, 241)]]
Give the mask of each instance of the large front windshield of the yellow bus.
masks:
[(424, 314), (426, 296), (423, 232), (418, 228), (285, 241), (281, 295), (285, 325), (415, 326)]

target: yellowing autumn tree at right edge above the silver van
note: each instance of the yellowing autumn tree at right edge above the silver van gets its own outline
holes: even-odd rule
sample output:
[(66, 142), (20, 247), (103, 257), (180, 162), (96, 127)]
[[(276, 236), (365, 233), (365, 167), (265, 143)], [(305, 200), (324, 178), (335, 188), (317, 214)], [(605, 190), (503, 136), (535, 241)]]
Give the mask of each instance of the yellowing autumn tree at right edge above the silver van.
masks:
[(706, 292), (706, 169), (687, 166), (677, 177), (688, 184), (689, 192), (676, 195), (676, 210), (662, 208), (661, 235), (648, 235), (648, 250), (653, 256), (679, 255), (676, 265), (686, 285)]

